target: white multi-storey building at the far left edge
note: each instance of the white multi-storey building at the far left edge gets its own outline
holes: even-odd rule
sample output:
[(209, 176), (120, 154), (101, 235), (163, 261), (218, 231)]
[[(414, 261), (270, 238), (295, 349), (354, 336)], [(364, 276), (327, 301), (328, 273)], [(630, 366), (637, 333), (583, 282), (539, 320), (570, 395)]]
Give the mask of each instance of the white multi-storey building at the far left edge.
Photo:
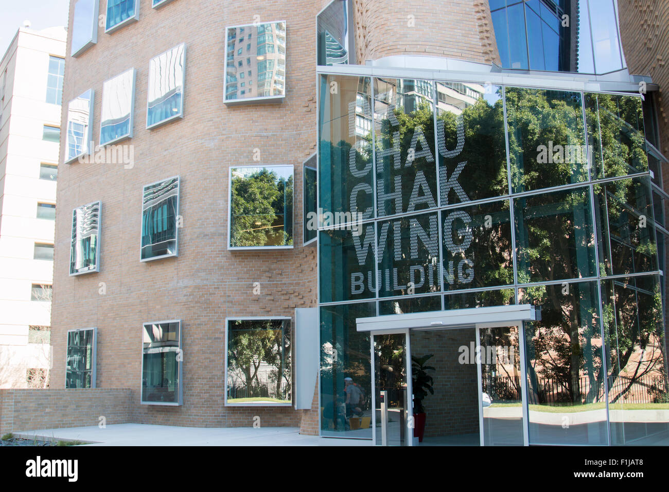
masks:
[(45, 388), (66, 31), (21, 27), (0, 62), (0, 388)]

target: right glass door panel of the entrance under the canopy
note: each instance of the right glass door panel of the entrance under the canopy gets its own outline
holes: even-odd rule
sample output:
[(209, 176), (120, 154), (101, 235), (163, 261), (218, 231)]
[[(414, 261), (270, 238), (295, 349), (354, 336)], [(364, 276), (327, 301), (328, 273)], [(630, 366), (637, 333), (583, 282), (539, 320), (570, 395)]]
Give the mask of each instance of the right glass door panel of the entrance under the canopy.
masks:
[(518, 327), (480, 328), (477, 331), (481, 445), (522, 446), (524, 380)]

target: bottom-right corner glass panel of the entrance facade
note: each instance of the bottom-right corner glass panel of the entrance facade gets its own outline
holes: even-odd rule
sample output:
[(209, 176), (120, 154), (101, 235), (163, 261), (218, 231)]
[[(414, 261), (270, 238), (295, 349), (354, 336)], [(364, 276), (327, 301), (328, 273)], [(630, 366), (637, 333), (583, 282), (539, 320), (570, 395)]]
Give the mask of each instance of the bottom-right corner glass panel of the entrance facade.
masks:
[(601, 282), (613, 445), (669, 444), (660, 277)]

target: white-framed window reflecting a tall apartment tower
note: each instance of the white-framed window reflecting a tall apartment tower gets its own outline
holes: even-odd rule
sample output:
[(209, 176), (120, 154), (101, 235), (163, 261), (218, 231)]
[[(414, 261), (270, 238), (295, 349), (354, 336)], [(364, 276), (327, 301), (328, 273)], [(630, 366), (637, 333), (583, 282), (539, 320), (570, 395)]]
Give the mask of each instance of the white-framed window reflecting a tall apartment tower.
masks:
[[(247, 48), (235, 48), (237, 39), (248, 33)], [(278, 47), (278, 49), (276, 49)], [(252, 54), (252, 56), (249, 56)], [(247, 66), (244, 67), (244, 60)], [(248, 85), (256, 88), (244, 88), (237, 84), (244, 71), (250, 72)], [(286, 21), (273, 21), (258, 24), (233, 25), (225, 27), (225, 94), (223, 102), (227, 105), (248, 102), (282, 102), (286, 96), (284, 84), (286, 78)], [(256, 80), (256, 84), (253, 84)], [(260, 80), (280, 82), (258, 84)]]

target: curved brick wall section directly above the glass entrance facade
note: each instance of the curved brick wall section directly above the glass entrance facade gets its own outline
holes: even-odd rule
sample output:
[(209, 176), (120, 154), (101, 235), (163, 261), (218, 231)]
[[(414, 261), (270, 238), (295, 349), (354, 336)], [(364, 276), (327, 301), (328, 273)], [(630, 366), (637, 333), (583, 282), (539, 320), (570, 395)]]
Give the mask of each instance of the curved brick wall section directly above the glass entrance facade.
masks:
[(357, 0), (353, 20), (359, 64), (395, 55), (500, 64), (488, 0)]

